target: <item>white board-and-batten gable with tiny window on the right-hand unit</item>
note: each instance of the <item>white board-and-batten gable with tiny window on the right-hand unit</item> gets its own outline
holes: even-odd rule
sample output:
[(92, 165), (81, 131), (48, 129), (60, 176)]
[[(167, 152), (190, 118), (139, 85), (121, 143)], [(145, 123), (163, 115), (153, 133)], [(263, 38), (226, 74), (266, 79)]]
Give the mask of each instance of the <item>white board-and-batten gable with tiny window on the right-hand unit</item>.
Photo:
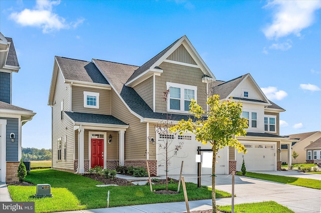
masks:
[[(248, 97), (244, 97), (244, 91), (248, 92)], [(253, 83), (252, 80), (250, 80), (249, 77), (246, 78), (243, 82), (241, 82), (233, 90), (231, 96), (265, 101), (264, 96), (261, 92), (258, 92), (256, 85)]]

